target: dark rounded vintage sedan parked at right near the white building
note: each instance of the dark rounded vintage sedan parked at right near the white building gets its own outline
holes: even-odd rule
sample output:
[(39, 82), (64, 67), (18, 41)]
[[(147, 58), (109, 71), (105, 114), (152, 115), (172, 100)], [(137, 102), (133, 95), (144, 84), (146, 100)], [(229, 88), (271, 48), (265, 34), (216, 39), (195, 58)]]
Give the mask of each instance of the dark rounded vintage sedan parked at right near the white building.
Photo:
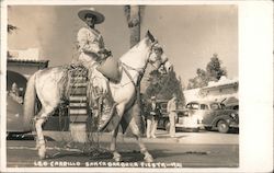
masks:
[(227, 108), (219, 102), (190, 102), (186, 104), (189, 115), (198, 117), (207, 130), (228, 132), (230, 128), (239, 128), (238, 111)]

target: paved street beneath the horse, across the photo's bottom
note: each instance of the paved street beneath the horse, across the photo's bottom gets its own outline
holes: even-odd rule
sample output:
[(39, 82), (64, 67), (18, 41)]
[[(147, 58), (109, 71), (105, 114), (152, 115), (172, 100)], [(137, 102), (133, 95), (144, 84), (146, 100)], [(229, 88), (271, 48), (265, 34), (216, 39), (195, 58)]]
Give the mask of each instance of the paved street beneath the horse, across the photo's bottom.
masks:
[[(91, 154), (81, 152), (80, 148), (65, 149), (64, 140), (66, 135), (60, 132), (52, 135), (47, 141), (48, 159), (41, 162), (35, 149), (35, 141), (32, 136), (26, 136), (24, 140), (16, 138), (8, 140), (7, 163), (8, 168), (21, 166), (105, 166), (113, 162), (112, 154), (106, 150), (101, 153)], [(101, 149), (107, 149), (110, 141), (109, 134), (100, 137)], [(159, 166), (183, 166), (183, 168), (236, 168), (239, 165), (238, 134), (219, 134), (215, 131), (201, 132), (178, 132), (175, 138), (169, 138), (168, 132), (158, 130), (157, 139), (146, 139), (148, 150), (155, 158), (155, 163)], [(53, 137), (55, 140), (53, 140)], [(59, 138), (58, 138), (59, 137)], [(118, 151), (124, 162), (137, 162), (142, 164), (142, 154), (132, 137), (119, 136), (117, 140)], [(87, 147), (85, 147), (87, 148)], [(80, 150), (79, 150), (80, 149)], [(83, 149), (84, 150), (84, 149)], [(85, 150), (87, 151), (87, 150)], [(101, 161), (102, 164), (99, 164)], [(61, 163), (60, 163), (61, 162)], [(44, 163), (44, 164), (42, 164)], [(59, 165), (59, 163), (61, 165)], [(160, 163), (165, 163), (160, 165)], [(148, 165), (147, 165), (148, 166)]]

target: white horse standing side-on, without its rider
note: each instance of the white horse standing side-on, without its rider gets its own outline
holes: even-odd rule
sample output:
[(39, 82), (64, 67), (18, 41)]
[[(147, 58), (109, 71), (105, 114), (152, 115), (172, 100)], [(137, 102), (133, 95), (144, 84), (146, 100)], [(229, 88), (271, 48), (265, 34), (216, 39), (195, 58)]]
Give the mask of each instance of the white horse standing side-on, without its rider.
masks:
[[(117, 83), (110, 82), (110, 90), (114, 102), (116, 103), (116, 114), (123, 122), (128, 123), (134, 136), (136, 137), (140, 147), (140, 152), (145, 155), (146, 162), (152, 162), (153, 158), (148, 152), (140, 138), (140, 130), (137, 126), (136, 119), (133, 118), (130, 109), (133, 109), (136, 101), (136, 90), (139, 84), (138, 80), (141, 73), (145, 72), (147, 64), (151, 64), (156, 69), (159, 69), (161, 65), (164, 66), (167, 71), (171, 70), (171, 64), (163, 51), (157, 51), (160, 45), (155, 41), (153, 36), (147, 32), (144, 39), (141, 39), (136, 46), (130, 48), (126, 54), (121, 57), (121, 64), (123, 71), (121, 81)], [(54, 67), (35, 72), (27, 82), (24, 101), (24, 116), (25, 122), (30, 123), (34, 118), (35, 114), (35, 99), (41, 101), (42, 108), (35, 116), (35, 128), (37, 132), (36, 147), (38, 149), (38, 155), (41, 159), (45, 159), (46, 145), (43, 135), (42, 125), (53, 114), (55, 108), (64, 97), (64, 92), (60, 92), (60, 88), (65, 85), (58, 85), (58, 81), (66, 74), (64, 68)], [(122, 157), (116, 151), (116, 137), (118, 132), (118, 124), (112, 131), (111, 151), (113, 152), (113, 159), (121, 161)]]

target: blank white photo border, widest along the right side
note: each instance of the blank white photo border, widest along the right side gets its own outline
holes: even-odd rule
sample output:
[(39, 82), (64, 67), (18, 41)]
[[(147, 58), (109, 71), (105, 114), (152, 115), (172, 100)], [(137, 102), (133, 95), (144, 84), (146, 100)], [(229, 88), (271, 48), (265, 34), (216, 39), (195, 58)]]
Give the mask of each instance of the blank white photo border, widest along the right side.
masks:
[[(5, 69), (7, 5), (15, 4), (238, 4), (239, 14), (239, 168), (103, 169), (7, 168)], [(273, 2), (168, 0), (2, 0), (1, 1), (1, 171), (4, 172), (269, 172), (273, 171)]]

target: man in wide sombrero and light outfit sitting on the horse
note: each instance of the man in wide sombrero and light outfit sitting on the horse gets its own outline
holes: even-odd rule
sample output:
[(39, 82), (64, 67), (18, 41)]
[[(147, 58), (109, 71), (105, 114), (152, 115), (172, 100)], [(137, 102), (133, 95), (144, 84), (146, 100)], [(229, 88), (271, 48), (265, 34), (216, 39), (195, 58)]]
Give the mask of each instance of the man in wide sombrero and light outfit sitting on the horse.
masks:
[[(95, 24), (104, 22), (104, 15), (93, 8), (82, 9), (78, 12), (78, 16), (85, 23), (78, 32), (78, 50), (80, 53), (76, 64), (80, 64), (89, 69), (89, 78), (92, 83), (93, 104), (92, 113), (94, 117), (101, 114), (99, 128), (111, 118), (111, 109), (113, 101), (109, 93), (109, 79), (104, 77), (96, 68), (101, 62), (109, 58), (112, 53), (104, 46), (104, 41), (100, 32), (95, 28)], [(112, 69), (110, 69), (112, 70)], [(113, 69), (116, 70), (116, 69)], [(102, 106), (102, 112), (100, 111)]]

